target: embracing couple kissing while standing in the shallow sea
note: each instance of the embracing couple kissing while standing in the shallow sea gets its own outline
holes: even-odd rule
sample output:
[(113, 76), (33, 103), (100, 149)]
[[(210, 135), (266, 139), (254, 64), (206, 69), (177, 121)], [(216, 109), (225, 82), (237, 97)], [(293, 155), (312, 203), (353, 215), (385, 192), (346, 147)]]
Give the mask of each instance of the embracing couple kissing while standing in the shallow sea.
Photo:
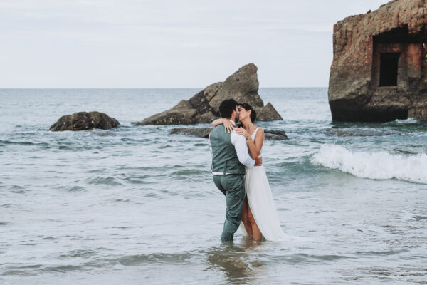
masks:
[(219, 105), (219, 113), (221, 119), (212, 122), (209, 149), (214, 183), (226, 196), (221, 241), (232, 241), (239, 226), (243, 236), (253, 239), (285, 239), (262, 164), (264, 130), (254, 124), (255, 110), (228, 99)]

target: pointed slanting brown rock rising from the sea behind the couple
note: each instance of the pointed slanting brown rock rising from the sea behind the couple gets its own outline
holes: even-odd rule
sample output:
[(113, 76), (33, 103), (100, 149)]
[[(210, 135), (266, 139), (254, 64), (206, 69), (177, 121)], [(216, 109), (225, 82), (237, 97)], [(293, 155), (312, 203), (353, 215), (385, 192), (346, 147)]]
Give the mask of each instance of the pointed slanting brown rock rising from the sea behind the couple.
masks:
[(211, 123), (219, 117), (221, 101), (233, 98), (239, 103), (249, 103), (256, 110), (258, 120), (283, 120), (273, 105), (264, 106), (258, 95), (257, 67), (253, 63), (240, 68), (226, 81), (214, 83), (190, 100), (181, 100), (174, 108), (136, 123), (137, 125), (189, 125)]

